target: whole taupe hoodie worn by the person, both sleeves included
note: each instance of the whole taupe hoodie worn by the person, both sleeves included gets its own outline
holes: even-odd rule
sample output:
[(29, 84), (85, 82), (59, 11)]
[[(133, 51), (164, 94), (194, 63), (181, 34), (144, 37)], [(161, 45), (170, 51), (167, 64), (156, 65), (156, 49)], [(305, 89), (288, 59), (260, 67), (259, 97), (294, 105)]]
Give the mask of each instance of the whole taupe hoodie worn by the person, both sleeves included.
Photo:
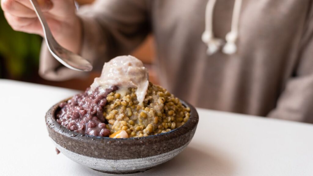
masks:
[[(207, 55), (201, 40), (207, 0), (98, 0), (80, 8), (81, 55), (100, 69), (153, 33), (161, 85), (197, 107), (313, 122), (311, 0), (243, 0), (237, 52)], [(234, 0), (217, 0), (213, 31), (225, 39)], [(39, 73), (65, 80), (86, 73), (60, 66), (43, 45)]]

